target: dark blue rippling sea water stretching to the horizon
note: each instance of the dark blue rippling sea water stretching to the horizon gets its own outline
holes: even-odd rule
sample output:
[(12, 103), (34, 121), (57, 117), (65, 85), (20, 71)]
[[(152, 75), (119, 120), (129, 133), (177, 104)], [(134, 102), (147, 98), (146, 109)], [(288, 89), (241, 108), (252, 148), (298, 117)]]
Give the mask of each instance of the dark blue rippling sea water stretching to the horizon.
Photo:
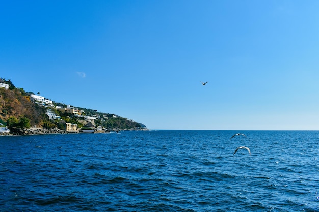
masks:
[(2, 136), (0, 211), (319, 211), (319, 131), (234, 133)]

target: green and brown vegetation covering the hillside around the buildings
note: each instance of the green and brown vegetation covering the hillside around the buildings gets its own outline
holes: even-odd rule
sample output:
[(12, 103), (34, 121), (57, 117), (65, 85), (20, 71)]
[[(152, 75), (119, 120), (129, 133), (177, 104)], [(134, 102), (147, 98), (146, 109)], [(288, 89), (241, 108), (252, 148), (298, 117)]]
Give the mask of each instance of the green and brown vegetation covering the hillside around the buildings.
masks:
[[(76, 117), (70, 113), (61, 113), (55, 107), (44, 107), (42, 105), (33, 103), (30, 100), (30, 95), (33, 92), (25, 92), (23, 88), (17, 88), (13, 85), (11, 80), (0, 78), (0, 82), (10, 85), (10, 88), (0, 88), (0, 124), (7, 125), (11, 128), (57, 128), (61, 120), (65, 122), (77, 124), (81, 128), (86, 124), (84, 117)], [(54, 102), (55, 106), (66, 107), (63, 103)], [(73, 106), (72, 106), (73, 107)], [(97, 110), (74, 107), (83, 110), (86, 116), (99, 116), (100, 119), (95, 120), (96, 126), (101, 126), (106, 129), (143, 129), (145, 125), (137, 123), (134, 120), (120, 117), (115, 114), (98, 112)], [(45, 114), (50, 109), (52, 112), (60, 116), (60, 119), (49, 120)]]

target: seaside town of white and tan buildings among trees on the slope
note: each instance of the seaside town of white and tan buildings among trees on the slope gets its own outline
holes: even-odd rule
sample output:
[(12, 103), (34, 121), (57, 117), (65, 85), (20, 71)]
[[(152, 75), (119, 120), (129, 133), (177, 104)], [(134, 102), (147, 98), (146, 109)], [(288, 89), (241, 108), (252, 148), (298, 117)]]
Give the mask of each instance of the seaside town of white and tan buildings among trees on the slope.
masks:
[[(2, 81), (5, 81), (2, 79)], [(9, 82), (11, 82), (9, 80)], [(0, 82), (0, 89), (9, 90), (10, 84)], [(21, 88), (20, 88), (21, 89)], [(0, 101), (5, 104), (3, 95), (0, 95)], [(32, 134), (52, 134), (52, 133), (118, 133), (121, 130), (148, 130), (145, 125), (136, 123), (133, 120), (127, 120), (115, 114), (100, 113), (96, 110), (92, 115), (88, 115), (84, 109), (79, 109), (71, 105), (64, 105), (62, 103), (55, 103), (54, 101), (47, 99), (43, 96), (26, 93), (24, 97), (29, 99), (30, 102), (45, 108), (45, 115), (48, 119), (45, 123), (51, 123), (54, 125), (44, 126), (24, 126), (23, 128), (14, 125), (4, 125), (4, 121), (0, 123), (0, 135), (32, 135)], [(92, 113), (92, 112), (91, 112)], [(1, 113), (0, 113), (1, 115)], [(70, 118), (71, 117), (71, 118)], [(10, 117), (11, 119), (14, 119)], [(127, 126), (113, 126), (110, 125), (111, 121), (121, 119), (121, 123), (124, 122), (134, 124), (129, 128)], [(10, 120), (10, 119), (9, 119)], [(68, 121), (73, 120), (73, 122)], [(75, 120), (75, 121), (74, 121)], [(110, 123), (108, 123), (110, 120)], [(108, 125), (109, 124), (109, 125)]]

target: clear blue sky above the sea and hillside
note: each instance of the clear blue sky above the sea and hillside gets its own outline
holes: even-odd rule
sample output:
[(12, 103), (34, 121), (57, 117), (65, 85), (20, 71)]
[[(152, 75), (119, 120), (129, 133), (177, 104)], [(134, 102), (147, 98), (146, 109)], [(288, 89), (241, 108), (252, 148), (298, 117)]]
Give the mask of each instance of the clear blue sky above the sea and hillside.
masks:
[(318, 11), (311, 0), (1, 0), (0, 77), (149, 129), (319, 130)]

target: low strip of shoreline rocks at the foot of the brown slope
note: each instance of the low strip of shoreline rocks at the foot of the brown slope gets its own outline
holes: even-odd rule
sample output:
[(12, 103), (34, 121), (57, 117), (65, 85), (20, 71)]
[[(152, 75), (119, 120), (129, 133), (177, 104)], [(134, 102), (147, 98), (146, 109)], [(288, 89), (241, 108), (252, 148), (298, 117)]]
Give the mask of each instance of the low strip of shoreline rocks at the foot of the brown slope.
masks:
[(10, 134), (8, 135), (45, 135), (45, 134), (70, 134), (70, 133), (78, 133), (78, 131), (64, 131), (58, 128), (54, 129), (45, 129), (45, 128), (37, 128), (37, 129), (19, 129), (19, 128), (11, 128)]

